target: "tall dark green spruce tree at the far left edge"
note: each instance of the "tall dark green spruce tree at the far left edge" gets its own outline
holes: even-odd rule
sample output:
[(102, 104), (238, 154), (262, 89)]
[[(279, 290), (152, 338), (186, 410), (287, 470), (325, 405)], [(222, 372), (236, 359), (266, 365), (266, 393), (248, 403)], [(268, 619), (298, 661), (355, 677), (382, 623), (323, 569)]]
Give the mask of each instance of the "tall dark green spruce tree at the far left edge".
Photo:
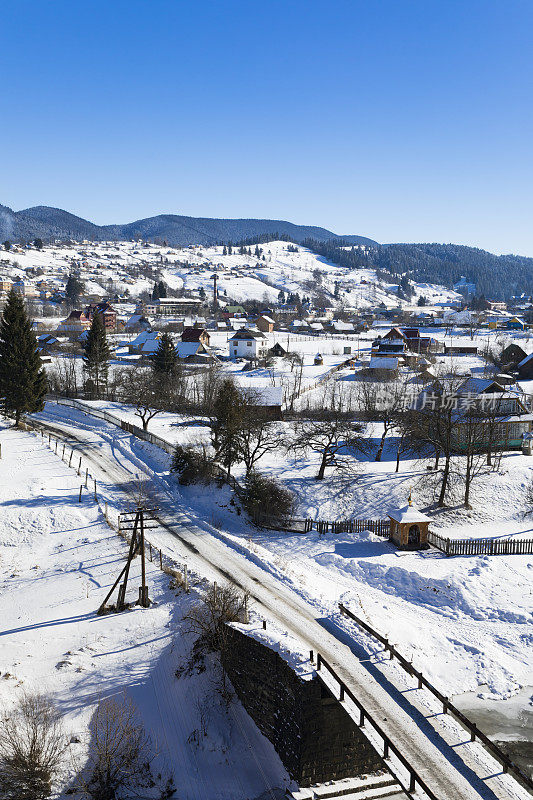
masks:
[(41, 411), (48, 386), (21, 295), (11, 289), (0, 319), (0, 402), (6, 414)]

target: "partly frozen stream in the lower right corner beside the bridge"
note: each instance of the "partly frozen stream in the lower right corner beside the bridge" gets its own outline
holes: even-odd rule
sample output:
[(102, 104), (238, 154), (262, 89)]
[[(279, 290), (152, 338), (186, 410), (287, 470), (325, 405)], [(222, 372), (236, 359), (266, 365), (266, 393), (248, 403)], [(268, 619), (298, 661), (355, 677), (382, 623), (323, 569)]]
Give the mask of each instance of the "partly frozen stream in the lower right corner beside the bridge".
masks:
[(525, 686), (506, 700), (489, 700), (479, 697), (479, 692), (467, 692), (455, 697), (454, 703), (533, 776), (533, 686)]

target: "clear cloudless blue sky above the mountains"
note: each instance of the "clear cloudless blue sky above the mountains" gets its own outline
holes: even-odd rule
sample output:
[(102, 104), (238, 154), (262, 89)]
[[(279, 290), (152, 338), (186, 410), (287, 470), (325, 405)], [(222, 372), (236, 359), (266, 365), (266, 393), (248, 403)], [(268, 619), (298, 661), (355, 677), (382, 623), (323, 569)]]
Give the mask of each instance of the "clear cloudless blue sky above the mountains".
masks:
[(533, 256), (531, 0), (6, 0), (0, 203)]

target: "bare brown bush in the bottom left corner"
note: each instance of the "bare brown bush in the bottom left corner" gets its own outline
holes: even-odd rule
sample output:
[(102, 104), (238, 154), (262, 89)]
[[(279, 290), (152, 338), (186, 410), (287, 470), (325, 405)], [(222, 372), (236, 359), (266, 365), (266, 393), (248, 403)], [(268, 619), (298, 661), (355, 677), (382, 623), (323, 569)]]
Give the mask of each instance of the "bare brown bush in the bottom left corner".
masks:
[(25, 695), (0, 722), (0, 796), (50, 797), (66, 748), (58, 712), (44, 695)]

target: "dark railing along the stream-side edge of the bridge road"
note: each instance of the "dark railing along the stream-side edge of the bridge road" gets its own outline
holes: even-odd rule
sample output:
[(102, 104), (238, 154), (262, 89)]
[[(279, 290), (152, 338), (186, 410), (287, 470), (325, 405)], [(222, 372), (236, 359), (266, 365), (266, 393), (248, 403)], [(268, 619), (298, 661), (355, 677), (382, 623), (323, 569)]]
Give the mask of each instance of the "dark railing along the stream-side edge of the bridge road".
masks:
[[(486, 734), (479, 730), (477, 725), (472, 722), (462, 711), (453, 705), (450, 702), (450, 699), (439, 692), (439, 690), (433, 686), (433, 684), (428, 681), (428, 679), (417, 670), (410, 661), (408, 661), (405, 656), (398, 652), (396, 647), (389, 642), (389, 640), (382, 636), (378, 631), (374, 630), (367, 622), (357, 617), (353, 611), (347, 608), (343, 603), (339, 603), (339, 609), (341, 614), (349, 617), (353, 620), (356, 625), (358, 625), (362, 630), (366, 633), (369, 633), (375, 639), (377, 639), (381, 644), (385, 647), (385, 650), (390, 653), (390, 657), (395, 657), (398, 662), (401, 664), (403, 669), (412, 675), (418, 680), (418, 688), (421, 689), (425, 687), (431, 694), (437, 698), (442, 703), (442, 713), (448, 714), (450, 713), (455, 719), (470, 733), (470, 741), (474, 742), (476, 739), (479, 739), (480, 742), (490, 751), (490, 754), (502, 765), (503, 772), (509, 772), (512, 776), (525, 788), (529, 789), (530, 791), (533, 790), (533, 780), (529, 778), (525, 772), (522, 772), (520, 767), (512, 761), (509, 756), (507, 756), (503, 750), (501, 750), (497, 744), (495, 744), (491, 739), (489, 739)], [(425, 790), (424, 790), (425, 791)]]

